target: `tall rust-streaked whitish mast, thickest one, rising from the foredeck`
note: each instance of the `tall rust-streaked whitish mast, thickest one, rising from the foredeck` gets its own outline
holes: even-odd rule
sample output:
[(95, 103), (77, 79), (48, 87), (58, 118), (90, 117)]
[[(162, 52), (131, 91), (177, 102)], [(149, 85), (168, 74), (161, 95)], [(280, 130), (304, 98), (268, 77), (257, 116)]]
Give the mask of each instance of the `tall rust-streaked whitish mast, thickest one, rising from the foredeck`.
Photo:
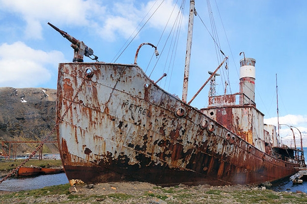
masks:
[(187, 98), (187, 88), (188, 88), (189, 69), (190, 69), (194, 11), (195, 11), (195, 2), (194, 0), (190, 0), (189, 26), (188, 26), (188, 35), (186, 43), (186, 55), (185, 55), (183, 90), (182, 90), (182, 101), (185, 103)]

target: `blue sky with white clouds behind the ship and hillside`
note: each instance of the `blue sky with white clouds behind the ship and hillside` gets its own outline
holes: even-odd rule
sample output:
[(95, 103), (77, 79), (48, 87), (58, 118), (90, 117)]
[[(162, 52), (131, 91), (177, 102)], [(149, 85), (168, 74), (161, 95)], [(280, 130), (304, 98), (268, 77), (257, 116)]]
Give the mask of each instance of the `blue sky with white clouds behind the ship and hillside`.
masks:
[[(189, 1), (184, 9), (180, 5), (176, 0), (0, 0), (0, 87), (57, 88), (58, 64), (72, 62), (73, 49), (50, 22), (91, 47), (100, 62), (133, 64), (141, 43), (154, 44), (160, 55), (152, 57), (154, 49), (143, 46), (137, 64), (154, 81), (167, 73), (158, 85), (181, 98)], [(239, 92), (244, 52), (256, 59), (255, 101), (265, 123), (277, 125), (277, 78), (280, 124), (307, 131), (307, 1), (196, 0), (195, 7), (187, 100), (223, 60), (219, 49), (229, 60), (228, 69), (217, 72), (216, 93), (224, 94), (225, 79), (227, 94)], [(183, 15), (175, 33), (177, 14)], [(165, 39), (172, 44), (175, 38), (176, 48), (166, 48)], [(92, 61), (85, 57), (85, 62)], [(208, 91), (209, 84), (191, 105), (206, 107)], [(290, 133), (286, 125), (282, 137)]]

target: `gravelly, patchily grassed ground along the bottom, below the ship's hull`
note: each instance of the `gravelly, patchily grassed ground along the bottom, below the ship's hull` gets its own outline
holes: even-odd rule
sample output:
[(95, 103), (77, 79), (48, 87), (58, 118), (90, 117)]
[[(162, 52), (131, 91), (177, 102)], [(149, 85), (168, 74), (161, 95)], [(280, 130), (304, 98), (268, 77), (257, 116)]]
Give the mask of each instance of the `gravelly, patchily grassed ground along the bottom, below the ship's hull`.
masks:
[[(60, 189), (61, 192), (54, 193)], [(60, 185), (34, 191), (0, 192), (0, 203), (307, 203), (302, 192), (274, 192), (255, 186), (160, 187), (142, 182)]]

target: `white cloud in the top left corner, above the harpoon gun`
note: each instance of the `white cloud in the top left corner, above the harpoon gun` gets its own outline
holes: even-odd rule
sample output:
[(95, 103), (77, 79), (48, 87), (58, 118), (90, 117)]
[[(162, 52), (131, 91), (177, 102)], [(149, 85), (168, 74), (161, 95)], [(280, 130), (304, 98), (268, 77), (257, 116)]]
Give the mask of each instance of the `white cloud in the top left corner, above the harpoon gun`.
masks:
[(102, 8), (92, 0), (0, 0), (0, 10), (20, 15), (26, 22), (25, 37), (40, 39), (42, 23), (88, 25), (89, 16)]

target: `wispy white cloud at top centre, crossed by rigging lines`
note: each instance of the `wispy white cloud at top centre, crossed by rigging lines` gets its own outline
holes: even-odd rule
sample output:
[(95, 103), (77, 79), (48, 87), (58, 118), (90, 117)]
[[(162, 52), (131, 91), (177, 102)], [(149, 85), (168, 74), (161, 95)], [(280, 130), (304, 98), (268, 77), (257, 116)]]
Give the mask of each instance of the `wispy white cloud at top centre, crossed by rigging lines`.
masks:
[[(171, 28), (176, 20), (177, 14), (180, 12), (179, 8), (175, 6), (172, 0), (163, 1), (163, 4), (161, 2), (162, 0), (149, 1), (147, 5), (141, 3), (141, 6), (138, 7), (136, 7), (134, 1), (115, 3), (110, 10), (106, 11), (103, 19), (100, 19), (99, 25), (102, 26), (96, 26), (97, 33), (102, 38), (110, 41), (114, 41), (117, 36), (129, 38), (135, 32), (136, 28), (139, 29), (144, 25), (153, 12), (156, 13), (149, 20), (149, 26), (157, 30), (163, 30), (171, 16), (168, 24), (168, 28)], [(184, 18), (184, 22), (186, 21), (186, 18)], [(140, 22), (142, 23), (139, 25)]]

